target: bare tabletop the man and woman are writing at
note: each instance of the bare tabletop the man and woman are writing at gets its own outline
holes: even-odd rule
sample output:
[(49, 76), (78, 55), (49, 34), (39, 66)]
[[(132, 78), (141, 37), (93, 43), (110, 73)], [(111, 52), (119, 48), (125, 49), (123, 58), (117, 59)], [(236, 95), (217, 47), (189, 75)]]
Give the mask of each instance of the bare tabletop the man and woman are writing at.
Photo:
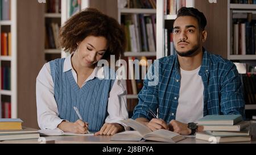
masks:
[[(41, 140), (9, 140), (2, 141), (2, 144), (163, 144), (157, 141), (112, 141), (111, 136), (47, 136)], [(176, 144), (209, 144), (208, 141), (196, 140), (195, 136), (187, 136), (186, 139)], [(239, 144), (256, 144), (256, 141), (250, 141)], [(168, 143), (164, 143), (168, 144)]]

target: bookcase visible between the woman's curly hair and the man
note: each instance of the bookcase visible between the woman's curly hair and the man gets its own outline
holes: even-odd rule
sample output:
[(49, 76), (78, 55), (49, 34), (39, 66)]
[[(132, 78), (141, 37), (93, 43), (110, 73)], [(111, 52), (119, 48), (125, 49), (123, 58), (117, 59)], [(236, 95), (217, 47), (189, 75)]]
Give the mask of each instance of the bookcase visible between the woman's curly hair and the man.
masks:
[[(143, 87), (142, 68), (147, 68), (147, 60), (156, 59), (156, 0), (122, 1), (118, 0), (118, 22), (126, 34), (127, 47), (122, 57), (127, 62), (127, 108), (129, 118), (138, 104), (138, 93)], [(129, 60), (139, 60), (139, 79), (131, 77), (135, 73), (128, 66)], [(143, 60), (143, 61), (141, 61)]]

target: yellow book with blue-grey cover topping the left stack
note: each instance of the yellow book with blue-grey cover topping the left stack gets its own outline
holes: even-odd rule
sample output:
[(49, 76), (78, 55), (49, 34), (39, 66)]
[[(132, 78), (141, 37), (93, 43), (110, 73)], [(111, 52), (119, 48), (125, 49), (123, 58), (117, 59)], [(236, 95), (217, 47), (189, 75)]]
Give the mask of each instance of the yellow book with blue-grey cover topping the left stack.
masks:
[(21, 119), (0, 119), (0, 130), (22, 129)]

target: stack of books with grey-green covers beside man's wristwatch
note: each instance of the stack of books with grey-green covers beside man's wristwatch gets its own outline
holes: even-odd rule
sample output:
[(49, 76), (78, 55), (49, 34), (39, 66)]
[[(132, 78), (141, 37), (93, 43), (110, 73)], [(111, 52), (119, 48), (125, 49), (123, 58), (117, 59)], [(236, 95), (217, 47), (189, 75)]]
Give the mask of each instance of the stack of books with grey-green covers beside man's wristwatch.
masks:
[(208, 115), (197, 122), (204, 132), (196, 133), (196, 139), (213, 143), (234, 143), (251, 141), (250, 122), (241, 115)]

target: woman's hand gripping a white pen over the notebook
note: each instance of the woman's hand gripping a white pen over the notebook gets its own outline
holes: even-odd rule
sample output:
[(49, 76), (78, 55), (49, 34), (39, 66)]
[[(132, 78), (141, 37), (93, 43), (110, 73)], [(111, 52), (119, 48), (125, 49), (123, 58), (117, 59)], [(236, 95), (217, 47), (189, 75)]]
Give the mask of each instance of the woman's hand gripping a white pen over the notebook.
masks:
[(80, 119), (74, 123), (63, 121), (59, 124), (58, 128), (64, 132), (84, 134), (88, 131), (88, 123), (82, 122)]

